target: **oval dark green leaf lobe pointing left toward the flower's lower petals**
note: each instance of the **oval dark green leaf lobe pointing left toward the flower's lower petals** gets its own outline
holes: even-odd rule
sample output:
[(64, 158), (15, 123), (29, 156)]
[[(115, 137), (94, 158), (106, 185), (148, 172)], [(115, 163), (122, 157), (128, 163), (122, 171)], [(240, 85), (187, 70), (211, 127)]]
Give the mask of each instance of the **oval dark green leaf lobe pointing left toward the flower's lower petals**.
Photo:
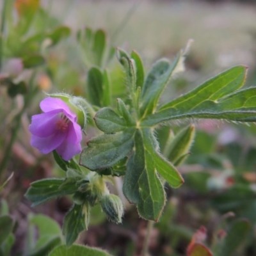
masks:
[(89, 170), (113, 166), (131, 152), (134, 129), (116, 134), (104, 134), (88, 141), (80, 156), (80, 164)]

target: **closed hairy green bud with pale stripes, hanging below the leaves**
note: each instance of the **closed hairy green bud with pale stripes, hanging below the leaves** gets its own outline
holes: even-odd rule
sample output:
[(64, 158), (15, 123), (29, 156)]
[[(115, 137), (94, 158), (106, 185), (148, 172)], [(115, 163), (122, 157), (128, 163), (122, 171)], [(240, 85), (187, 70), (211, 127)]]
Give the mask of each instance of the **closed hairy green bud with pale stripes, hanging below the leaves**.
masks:
[(115, 223), (122, 222), (124, 205), (118, 196), (112, 194), (102, 196), (100, 199), (100, 206), (102, 211), (107, 214), (109, 220)]

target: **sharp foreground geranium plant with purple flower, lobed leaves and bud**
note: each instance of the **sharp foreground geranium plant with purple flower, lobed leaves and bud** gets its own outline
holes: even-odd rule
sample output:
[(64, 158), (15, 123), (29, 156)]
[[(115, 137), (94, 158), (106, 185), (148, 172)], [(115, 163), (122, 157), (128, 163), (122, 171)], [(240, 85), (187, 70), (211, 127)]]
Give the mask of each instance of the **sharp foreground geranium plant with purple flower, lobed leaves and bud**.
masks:
[[(79, 143), (84, 122), (77, 124), (76, 111), (72, 112), (61, 100), (64, 97), (72, 101), (72, 96), (54, 94), (41, 102), (45, 113), (32, 118), (31, 145), (44, 154), (54, 150), (54, 158), (66, 172), (66, 178), (33, 182), (26, 197), (38, 205), (57, 196), (72, 195), (74, 205), (63, 224), (67, 246), (88, 227), (93, 205), (100, 204), (109, 220), (122, 221), (122, 201), (109, 194), (109, 177), (124, 176), (127, 200), (137, 205), (142, 218), (159, 220), (166, 203), (165, 182), (172, 188), (179, 188), (184, 182), (176, 166), (188, 156), (195, 126), (189, 125), (166, 143), (163, 154), (155, 135), (157, 125), (182, 118), (255, 122), (256, 88), (241, 89), (247, 70), (244, 66), (230, 68), (170, 102), (160, 101), (168, 82), (184, 70), (189, 44), (172, 63), (166, 59), (157, 61), (147, 76), (137, 52), (129, 55), (117, 49), (117, 58), (126, 74), (127, 97), (116, 99), (116, 108), (102, 108), (102, 102), (110, 101), (106, 100), (111, 97), (110, 85), (95, 84), (95, 80), (101, 81), (102, 72), (95, 67), (89, 70), (88, 75), (95, 77), (92, 83), (88, 80), (92, 103), (90, 99), (80, 99), (84, 104), (75, 102), (74, 106), (83, 113), (84, 122), (93, 118), (103, 134), (90, 139), (81, 154)], [(70, 159), (72, 156), (75, 157)]]

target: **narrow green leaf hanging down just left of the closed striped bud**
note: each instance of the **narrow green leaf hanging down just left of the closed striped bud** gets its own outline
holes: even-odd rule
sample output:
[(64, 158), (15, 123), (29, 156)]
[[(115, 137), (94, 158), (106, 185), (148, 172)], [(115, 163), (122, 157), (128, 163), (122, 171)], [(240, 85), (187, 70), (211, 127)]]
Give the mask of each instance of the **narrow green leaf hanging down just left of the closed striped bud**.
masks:
[(65, 216), (63, 234), (66, 237), (67, 246), (74, 243), (79, 234), (87, 229), (88, 223), (85, 221), (86, 216), (83, 208), (83, 205), (74, 204), (72, 209)]

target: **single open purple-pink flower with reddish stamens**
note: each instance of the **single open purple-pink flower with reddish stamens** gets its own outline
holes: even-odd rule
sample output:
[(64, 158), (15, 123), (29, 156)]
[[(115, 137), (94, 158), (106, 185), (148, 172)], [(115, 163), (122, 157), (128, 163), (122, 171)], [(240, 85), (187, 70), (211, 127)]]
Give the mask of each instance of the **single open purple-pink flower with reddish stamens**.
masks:
[(32, 116), (29, 125), (31, 145), (42, 154), (55, 149), (66, 161), (79, 154), (82, 131), (76, 114), (58, 98), (45, 98), (40, 102), (40, 108), (44, 113)]

